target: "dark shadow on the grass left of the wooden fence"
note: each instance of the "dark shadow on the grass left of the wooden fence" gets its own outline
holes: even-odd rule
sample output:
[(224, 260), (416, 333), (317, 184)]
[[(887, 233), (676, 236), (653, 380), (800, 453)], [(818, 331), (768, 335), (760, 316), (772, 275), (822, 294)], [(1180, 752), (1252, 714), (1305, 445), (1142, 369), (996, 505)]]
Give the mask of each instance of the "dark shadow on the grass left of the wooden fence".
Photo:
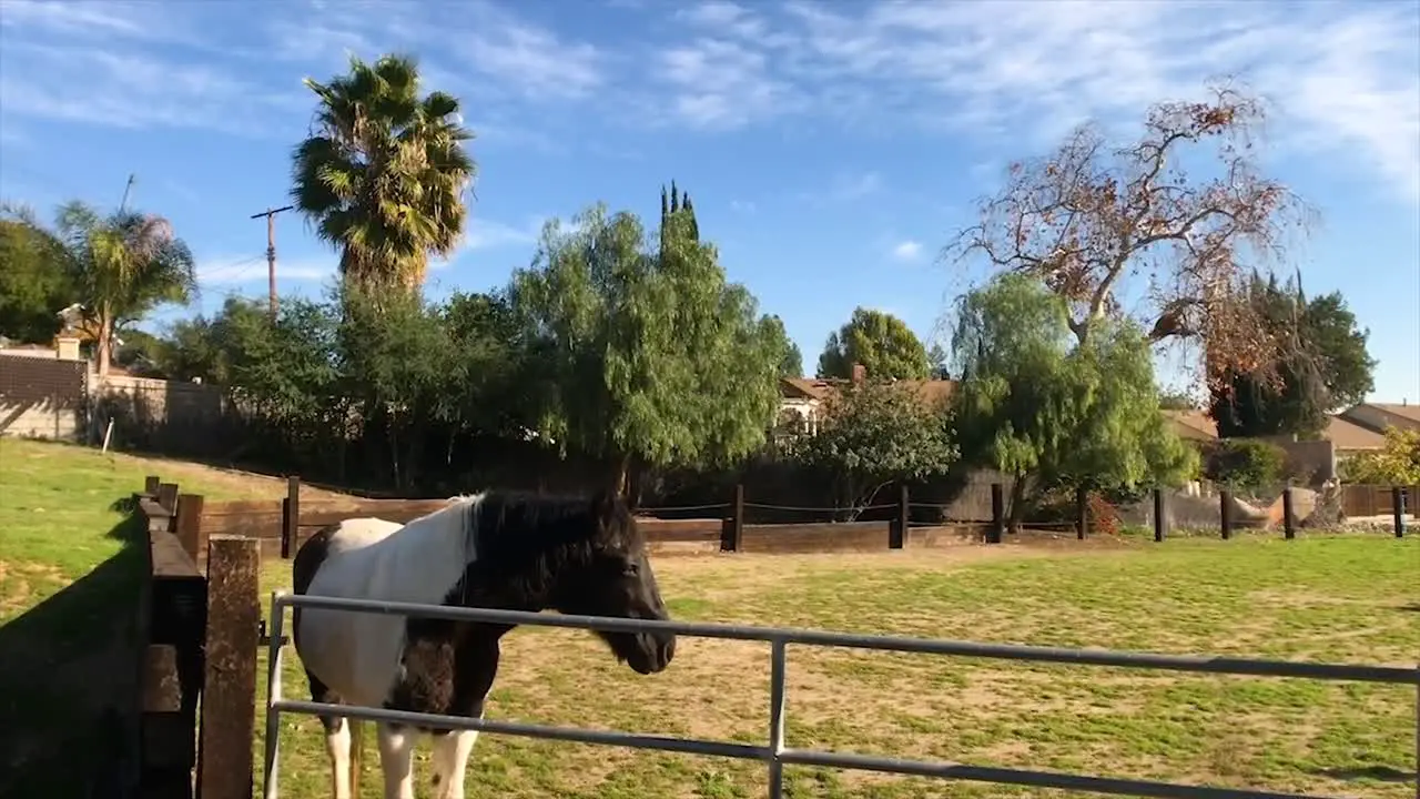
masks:
[(0, 798), (95, 796), (128, 756), (145, 522), (108, 536), (116, 554), (0, 627)]

